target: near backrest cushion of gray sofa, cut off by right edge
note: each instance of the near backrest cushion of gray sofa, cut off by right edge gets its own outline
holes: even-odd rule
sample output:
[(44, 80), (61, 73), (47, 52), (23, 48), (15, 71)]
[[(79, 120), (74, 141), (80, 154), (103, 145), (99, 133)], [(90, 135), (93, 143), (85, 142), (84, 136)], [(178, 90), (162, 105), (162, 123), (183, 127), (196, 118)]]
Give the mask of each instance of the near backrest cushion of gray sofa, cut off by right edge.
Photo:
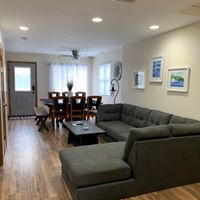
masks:
[(200, 135), (200, 123), (170, 124), (170, 131), (174, 137)]

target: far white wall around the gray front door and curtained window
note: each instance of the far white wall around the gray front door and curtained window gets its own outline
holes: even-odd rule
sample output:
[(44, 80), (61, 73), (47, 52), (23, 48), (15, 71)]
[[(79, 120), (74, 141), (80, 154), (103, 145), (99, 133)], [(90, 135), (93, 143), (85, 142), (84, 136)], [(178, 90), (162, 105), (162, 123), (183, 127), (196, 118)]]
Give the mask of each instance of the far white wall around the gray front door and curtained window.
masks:
[[(7, 61), (27, 61), (37, 62), (37, 86), (38, 86), (38, 99), (47, 97), (49, 91), (49, 64), (53, 62), (68, 62), (70, 58), (59, 57), (46, 54), (31, 54), (31, 53), (13, 53), (6, 52)], [(89, 75), (92, 72), (92, 59), (83, 58), (80, 62), (89, 66)], [(89, 88), (91, 92), (91, 89)], [(40, 101), (38, 101), (39, 105)]]

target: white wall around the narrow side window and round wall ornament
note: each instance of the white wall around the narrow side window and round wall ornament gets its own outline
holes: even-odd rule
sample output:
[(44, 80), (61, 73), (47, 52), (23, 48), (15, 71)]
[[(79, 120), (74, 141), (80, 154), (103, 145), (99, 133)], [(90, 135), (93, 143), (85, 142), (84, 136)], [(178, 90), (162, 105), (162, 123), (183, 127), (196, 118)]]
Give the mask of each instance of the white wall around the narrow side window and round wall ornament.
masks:
[[(93, 94), (98, 95), (98, 69), (99, 65), (105, 64), (105, 63), (111, 63), (112, 65), (112, 72), (111, 75), (113, 74), (113, 65), (118, 62), (122, 62), (122, 49), (110, 52), (110, 53), (105, 53), (101, 54), (99, 56), (96, 56), (94, 59), (94, 64), (93, 64)], [(122, 76), (123, 76), (123, 63), (122, 63)], [(111, 77), (113, 78), (113, 76)], [(121, 102), (121, 81), (119, 81), (120, 84), (120, 90), (119, 94), (116, 98), (116, 103)], [(117, 86), (116, 86), (117, 88)], [(103, 96), (103, 103), (113, 103), (113, 97), (111, 96)]]

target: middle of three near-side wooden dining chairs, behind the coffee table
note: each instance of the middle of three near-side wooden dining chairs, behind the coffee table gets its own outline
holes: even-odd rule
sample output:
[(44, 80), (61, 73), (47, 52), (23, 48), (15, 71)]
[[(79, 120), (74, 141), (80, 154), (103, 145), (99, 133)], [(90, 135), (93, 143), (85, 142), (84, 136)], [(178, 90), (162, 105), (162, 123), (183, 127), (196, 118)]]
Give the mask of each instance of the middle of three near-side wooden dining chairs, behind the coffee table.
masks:
[(70, 120), (85, 119), (85, 97), (73, 96), (70, 98)]

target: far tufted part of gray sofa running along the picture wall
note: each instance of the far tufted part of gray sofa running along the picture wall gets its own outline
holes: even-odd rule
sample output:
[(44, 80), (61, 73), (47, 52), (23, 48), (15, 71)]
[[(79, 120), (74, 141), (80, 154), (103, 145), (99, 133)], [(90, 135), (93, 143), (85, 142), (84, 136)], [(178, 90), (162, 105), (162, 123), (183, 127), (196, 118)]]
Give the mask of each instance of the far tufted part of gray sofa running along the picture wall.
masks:
[(97, 115), (97, 126), (106, 130), (108, 141), (125, 141), (132, 127), (195, 122), (198, 121), (130, 104), (101, 105)]

